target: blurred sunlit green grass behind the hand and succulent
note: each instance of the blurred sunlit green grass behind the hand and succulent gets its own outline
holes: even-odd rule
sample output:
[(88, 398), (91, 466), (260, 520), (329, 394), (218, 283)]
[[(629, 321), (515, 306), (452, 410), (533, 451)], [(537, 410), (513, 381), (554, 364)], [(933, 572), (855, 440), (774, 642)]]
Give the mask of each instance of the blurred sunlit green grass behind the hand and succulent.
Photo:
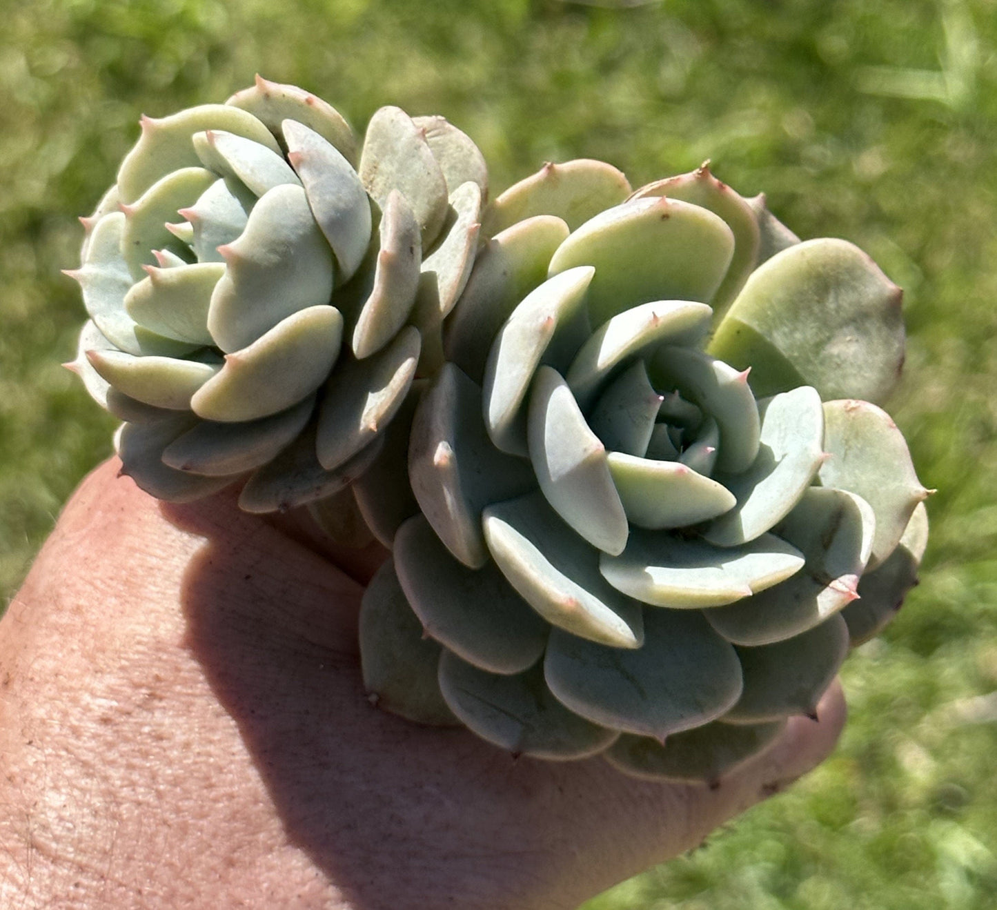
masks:
[(898, 620), (852, 655), (821, 769), (586, 910), (997, 906), (997, 9), (993, 0), (0, 0), (0, 588), (9, 597), (112, 422), (58, 366), (88, 213), (138, 116), (255, 72), (470, 133), (498, 192), (544, 160), (634, 185), (711, 157), (801, 236), (906, 291), (891, 406), (932, 539)]

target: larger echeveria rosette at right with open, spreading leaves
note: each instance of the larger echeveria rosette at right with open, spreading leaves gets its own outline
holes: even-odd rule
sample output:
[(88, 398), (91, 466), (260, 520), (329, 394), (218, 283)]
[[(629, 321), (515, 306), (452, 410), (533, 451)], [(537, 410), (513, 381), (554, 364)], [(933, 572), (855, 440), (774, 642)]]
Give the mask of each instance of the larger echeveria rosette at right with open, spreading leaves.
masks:
[(715, 781), (813, 714), (913, 581), (927, 491), (869, 401), (899, 290), (705, 166), (631, 193), (547, 165), (485, 224), (410, 484), (368, 501), (393, 545), (368, 689), (514, 754)]

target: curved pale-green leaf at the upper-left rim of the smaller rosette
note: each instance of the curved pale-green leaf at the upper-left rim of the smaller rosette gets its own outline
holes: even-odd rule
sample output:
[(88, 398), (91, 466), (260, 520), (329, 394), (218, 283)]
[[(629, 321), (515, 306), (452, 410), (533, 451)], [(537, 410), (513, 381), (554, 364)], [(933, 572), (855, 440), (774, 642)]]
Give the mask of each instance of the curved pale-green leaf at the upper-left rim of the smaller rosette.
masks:
[(121, 201), (134, 202), (160, 177), (200, 161), (191, 138), (204, 130), (224, 130), (280, 152), (277, 141), (255, 117), (238, 108), (200, 105), (162, 120), (142, 118), (142, 136), (118, 171)]

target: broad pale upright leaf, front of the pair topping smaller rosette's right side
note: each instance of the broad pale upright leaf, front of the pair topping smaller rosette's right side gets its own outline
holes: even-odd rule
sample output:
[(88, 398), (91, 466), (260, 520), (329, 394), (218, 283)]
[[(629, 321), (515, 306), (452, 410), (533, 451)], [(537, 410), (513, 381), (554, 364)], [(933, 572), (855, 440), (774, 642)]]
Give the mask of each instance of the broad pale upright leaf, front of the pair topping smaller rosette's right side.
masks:
[(433, 156), (426, 131), (401, 108), (381, 108), (367, 125), (360, 179), (383, 208), (393, 189), (412, 206), (430, 249), (447, 219), (447, 181)]

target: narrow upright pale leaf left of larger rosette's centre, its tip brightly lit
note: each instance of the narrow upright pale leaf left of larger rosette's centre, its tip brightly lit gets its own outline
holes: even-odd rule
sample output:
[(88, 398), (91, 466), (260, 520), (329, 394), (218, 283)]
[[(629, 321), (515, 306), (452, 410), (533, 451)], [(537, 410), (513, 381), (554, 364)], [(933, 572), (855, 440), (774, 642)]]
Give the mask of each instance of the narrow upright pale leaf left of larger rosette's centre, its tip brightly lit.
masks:
[(544, 281), (512, 311), (496, 336), (485, 367), (485, 425), (493, 443), (510, 455), (526, 455), (526, 395), (536, 368), (558, 329), (581, 312), (591, 268)]

